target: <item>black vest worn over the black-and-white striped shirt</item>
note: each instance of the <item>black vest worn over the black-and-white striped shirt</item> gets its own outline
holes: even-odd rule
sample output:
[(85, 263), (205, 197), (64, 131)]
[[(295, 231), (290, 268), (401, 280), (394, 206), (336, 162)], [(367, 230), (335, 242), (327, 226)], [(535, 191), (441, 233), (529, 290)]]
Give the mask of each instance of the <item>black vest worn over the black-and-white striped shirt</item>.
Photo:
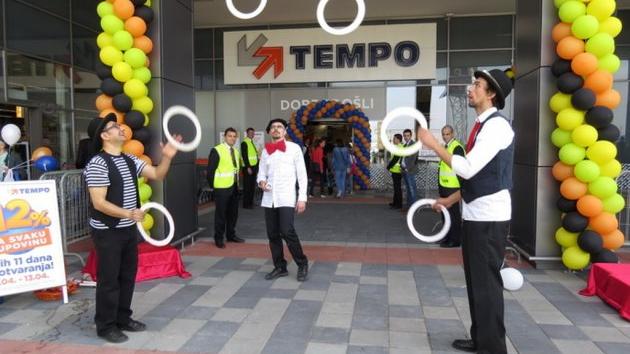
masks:
[[(109, 176), (109, 187), (107, 187), (107, 195), (105, 196), (105, 200), (114, 205), (122, 207), (124, 196), (122, 174), (116, 167), (116, 163), (114, 163), (114, 158), (112, 157), (112, 155), (106, 152), (101, 152), (100, 154), (98, 154), (98, 156), (105, 160)], [(129, 168), (129, 172), (131, 173), (131, 178), (133, 179), (135, 187), (134, 189), (136, 191), (136, 207), (140, 208), (140, 195), (138, 194), (138, 172), (136, 169), (136, 164), (129, 156), (125, 155), (124, 153), (121, 154), (121, 156), (125, 160), (125, 163), (127, 163), (127, 167)], [(119, 218), (109, 216), (94, 209), (94, 205), (92, 205), (92, 203), (90, 203), (90, 217), (92, 217), (92, 219), (94, 220), (102, 222), (109, 228), (116, 227), (116, 225), (118, 225), (118, 223), (120, 222)]]

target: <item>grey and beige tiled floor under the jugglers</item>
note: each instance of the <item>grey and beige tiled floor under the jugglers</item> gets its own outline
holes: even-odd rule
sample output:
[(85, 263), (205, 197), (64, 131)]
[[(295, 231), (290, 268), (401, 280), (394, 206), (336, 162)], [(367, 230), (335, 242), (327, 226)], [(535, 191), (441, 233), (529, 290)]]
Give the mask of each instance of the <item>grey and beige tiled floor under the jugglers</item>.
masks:
[[(404, 237), (365, 237), (366, 229), (387, 228), (370, 217), (374, 212), (396, 230), (403, 216), (375, 205), (352, 208), (365, 217), (319, 204), (298, 218), (311, 261), (304, 283), (295, 280), (292, 263), (289, 277), (264, 280), (272, 266), (263, 237), (253, 236), (260, 210), (246, 210), (238, 232), (247, 243), (219, 250), (202, 239), (183, 252), (191, 278), (137, 284), (134, 317), (147, 332), (120, 345), (96, 337), (92, 288), (66, 305), (21, 294), (0, 305), (0, 353), (454, 352), (451, 341), (470, 325), (459, 250), (418, 245), (402, 228)], [(338, 240), (317, 239), (344, 216), (349, 225), (336, 231)], [(584, 274), (510, 263), (526, 278), (521, 290), (505, 292), (511, 353), (630, 352), (630, 322), (598, 298), (577, 294)], [(69, 269), (76, 275), (78, 264)]]

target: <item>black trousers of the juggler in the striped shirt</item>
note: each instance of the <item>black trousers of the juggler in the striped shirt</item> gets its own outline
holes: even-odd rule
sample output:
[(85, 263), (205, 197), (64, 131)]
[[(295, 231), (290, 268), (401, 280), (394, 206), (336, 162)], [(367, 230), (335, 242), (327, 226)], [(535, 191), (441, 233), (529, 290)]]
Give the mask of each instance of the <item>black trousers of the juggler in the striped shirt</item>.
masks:
[(106, 334), (131, 318), (131, 299), (138, 270), (138, 229), (92, 229), (98, 256), (96, 282), (96, 332)]

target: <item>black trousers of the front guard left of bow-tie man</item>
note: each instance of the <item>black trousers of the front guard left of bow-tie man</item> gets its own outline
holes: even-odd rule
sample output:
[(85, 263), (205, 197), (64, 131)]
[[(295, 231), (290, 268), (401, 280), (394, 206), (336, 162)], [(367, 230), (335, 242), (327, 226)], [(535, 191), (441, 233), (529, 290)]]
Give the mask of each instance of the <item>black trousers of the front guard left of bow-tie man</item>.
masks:
[(223, 241), (236, 236), (236, 220), (238, 219), (238, 189), (215, 188), (214, 190), (214, 239)]

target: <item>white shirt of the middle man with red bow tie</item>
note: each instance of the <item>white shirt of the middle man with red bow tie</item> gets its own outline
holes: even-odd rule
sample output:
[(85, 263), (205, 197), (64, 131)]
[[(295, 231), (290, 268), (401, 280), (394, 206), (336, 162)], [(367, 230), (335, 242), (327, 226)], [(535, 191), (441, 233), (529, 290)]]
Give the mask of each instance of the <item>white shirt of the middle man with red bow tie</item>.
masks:
[(286, 151), (269, 155), (263, 149), (256, 182), (267, 181), (271, 190), (264, 191), (261, 206), (265, 208), (295, 207), (295, 182), (298, 183), (298, 201), (306, 202), (306, 166), (299, 145), (286, 141)]

